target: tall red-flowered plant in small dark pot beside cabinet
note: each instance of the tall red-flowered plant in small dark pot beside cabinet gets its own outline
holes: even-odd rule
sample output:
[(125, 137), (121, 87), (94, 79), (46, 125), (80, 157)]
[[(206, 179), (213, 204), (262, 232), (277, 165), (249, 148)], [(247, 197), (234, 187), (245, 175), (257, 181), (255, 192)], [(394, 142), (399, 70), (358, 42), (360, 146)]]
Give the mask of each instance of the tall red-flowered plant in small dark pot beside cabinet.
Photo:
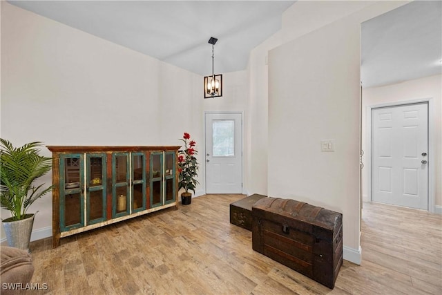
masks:
[(195, 187), (199, 184), (198, 180), (196, 180), (198, 176), (198, 161), (195, 158), (198, 151), (194, 149), (196, 143), (191, 140), (189, 133), (184, 132), (180, 140), (184, 142), (184, 150), (178, 151), (178, 172), (180, 172), (178, 188), (184, 189), (184, 193), (181, 194), (181, 203), (186, 205), (192, 202), (190, 191), (195, 193)]

